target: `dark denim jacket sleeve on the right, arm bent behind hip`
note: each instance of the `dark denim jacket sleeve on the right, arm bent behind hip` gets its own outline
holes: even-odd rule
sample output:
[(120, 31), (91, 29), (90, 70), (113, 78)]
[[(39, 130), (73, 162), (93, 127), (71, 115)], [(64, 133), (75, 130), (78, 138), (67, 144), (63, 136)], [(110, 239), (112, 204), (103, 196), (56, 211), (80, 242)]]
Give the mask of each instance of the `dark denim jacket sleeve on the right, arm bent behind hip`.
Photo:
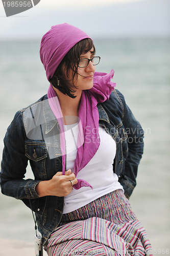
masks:
[(136, 186), (137, 169), (143, 154), (144, 132), (140, 123), (135, 119), (131, 110), (125, 102), (124, 96), (117, 91), (119, 99), (123, 103), (123, 125), (128, 135), (128, 156), (125, 160), (125, 168), (119, 178), (123, 185), (125, 196), (129, 199)]

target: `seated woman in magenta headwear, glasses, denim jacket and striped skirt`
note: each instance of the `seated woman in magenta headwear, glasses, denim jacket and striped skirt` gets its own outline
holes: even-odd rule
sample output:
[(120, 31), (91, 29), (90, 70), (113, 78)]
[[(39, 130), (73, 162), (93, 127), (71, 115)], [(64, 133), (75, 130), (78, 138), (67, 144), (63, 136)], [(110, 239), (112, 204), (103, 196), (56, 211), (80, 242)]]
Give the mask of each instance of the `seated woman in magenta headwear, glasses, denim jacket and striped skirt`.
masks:
[[(48, 255), (152, 255), (127, 199), (143, 130), (114, 90), (114, 71), (95, 72), (92, 39), (68, 24), (42, 37), (40, 58), (50, 87), (7, 130), (2, 193), (36, 212)], [(23, 179), (28, 160), (35, 180)]]

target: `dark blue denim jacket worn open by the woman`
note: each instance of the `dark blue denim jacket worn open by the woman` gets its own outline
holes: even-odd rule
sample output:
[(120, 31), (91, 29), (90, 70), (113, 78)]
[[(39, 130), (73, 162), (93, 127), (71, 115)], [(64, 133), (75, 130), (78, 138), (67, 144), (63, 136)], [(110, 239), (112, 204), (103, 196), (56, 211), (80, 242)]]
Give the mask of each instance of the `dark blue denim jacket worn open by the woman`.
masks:
[[(128, 108), (124, 96), (114, 90), (109, 100), (98, 104), (99, 123), (116, 142), (113, 172), (130, 197), (136, 185), (137, 168), (143, 153), (143, 130)], [(62, 172), (59, 125), (47, 95), (15, 114), (4, 138), (2, 193), (21, 199), (37, 213), (37, 224), (43, 244), (59, 225), (64, 197), (39, 198), (35, 187), (41, 180), (50, 180)], [(30, 165), (35, 179), (25, 180)]]

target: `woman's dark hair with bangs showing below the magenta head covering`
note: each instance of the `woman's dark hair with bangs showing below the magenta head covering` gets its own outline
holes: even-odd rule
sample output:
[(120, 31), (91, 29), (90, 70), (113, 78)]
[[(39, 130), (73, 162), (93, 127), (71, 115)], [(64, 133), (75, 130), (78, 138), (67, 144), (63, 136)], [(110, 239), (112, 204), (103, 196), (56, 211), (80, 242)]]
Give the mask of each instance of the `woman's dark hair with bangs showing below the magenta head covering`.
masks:
[[(79, 41), (74, 47), (72, 47), (67, 54), (64, 56), (62, 61), (60, 62), (58, 68), (56, 69), (53, 77), (50, 79), (50, 83), (52, 86), (57, 88), (63, 94), (68, 95), (71, 98), (75, 98), (75, 91), (70, 88), (70, 81), (68, 80), (69, 71), (72, 70), (72, 84), (75, 86), (75, 81), (78, 77), (78, 63), (80, 61), (81, 54), (86, 54), (93, 47), (92, 53), (95, 53), (95, 47), (93, 41), (90, 38), (85, 38)], [(62, 67), (66, 70), (66, 76), (63, 74)], [(59, 80), (59, 85), (58, 85)]]

